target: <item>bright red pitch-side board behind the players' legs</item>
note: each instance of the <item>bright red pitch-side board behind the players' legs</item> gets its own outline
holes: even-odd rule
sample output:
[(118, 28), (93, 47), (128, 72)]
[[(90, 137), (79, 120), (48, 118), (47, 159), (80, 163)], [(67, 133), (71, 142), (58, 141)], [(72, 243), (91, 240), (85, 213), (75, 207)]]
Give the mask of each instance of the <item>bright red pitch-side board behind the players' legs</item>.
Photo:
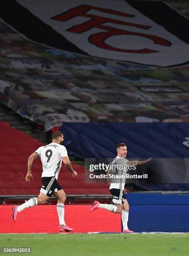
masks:
[[(11, 207), (0, 205), (0, 233), (59, 233), (56, 205), (37, 205), (19, 213), (13, 223)], [(121, 215), (90, 205), (65, 205), (65, 222), (74, 233), (121, 232)]]

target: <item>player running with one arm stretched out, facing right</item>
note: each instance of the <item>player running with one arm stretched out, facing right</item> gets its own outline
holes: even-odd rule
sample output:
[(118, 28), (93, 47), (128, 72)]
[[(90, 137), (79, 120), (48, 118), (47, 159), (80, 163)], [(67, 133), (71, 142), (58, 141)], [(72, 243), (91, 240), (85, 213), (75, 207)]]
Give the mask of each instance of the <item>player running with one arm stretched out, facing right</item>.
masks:
[[(127, 146), (125, 143), (119, 143), (117, 145), (117, 157), (112, 161), (112, 164), (118, 166), (123, 166), (123, 165), (139, 165), (139, 164), (144, 164), (149, 161), (151, 161), (152, 158), (149, 158), (145, 161), (128, 161), (125, 159), (127, 156)], [(117, 175), (122, 174), (123, 169), (117, 170)], [(110, 171), (107, 173), (107, 177), (109, 176)], [(110, 179), (108, 179), (110, 180)], [(112, 179), (110, 182), (110, 187), (109, 191), (113, 195), (113, 200), (112, 202), (114, 205), (107, 205), (107, 204), (100, 204), (98, 201), (94, 202), (94, 205), (90, 208), (90, 212), (99, 209), (99, 208), (104, 208), (106, 210), (109, 210), (110, 212), (114, 213), (121, 213), (122, 214), (122, 223), (123, 223), (123, 233), (134, 233), (132, 230), (129, 230), (127, 226), (128, 218), (129, 218), (129, 204), (127, 202), (127, 199), (125, 198), (124, 195), (124, 185), (125, 185), (125, 178), (120, 178), (120, 179)]]

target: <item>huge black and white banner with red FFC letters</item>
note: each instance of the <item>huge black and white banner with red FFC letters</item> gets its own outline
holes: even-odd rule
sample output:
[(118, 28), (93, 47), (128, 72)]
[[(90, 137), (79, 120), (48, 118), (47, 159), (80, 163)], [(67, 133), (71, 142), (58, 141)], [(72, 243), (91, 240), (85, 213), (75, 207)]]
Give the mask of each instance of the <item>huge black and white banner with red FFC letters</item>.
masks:
[(6, 0), (0, 15), (30, 40), (77, 54), (155, 67), (189, 62), (189, 20), (160, 1)]

